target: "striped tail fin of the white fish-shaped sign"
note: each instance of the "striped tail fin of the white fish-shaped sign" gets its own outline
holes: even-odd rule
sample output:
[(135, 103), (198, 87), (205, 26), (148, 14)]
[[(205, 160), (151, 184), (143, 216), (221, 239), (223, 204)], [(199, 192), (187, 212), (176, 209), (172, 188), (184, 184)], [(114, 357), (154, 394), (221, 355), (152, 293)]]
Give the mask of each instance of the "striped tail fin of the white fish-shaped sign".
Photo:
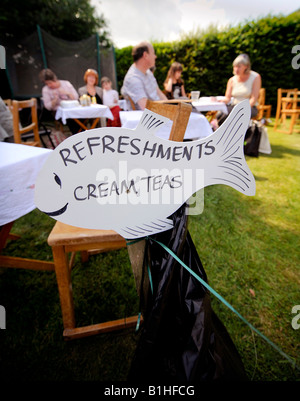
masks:
[(244, 100), (234, 107), (215, 132), (219, 161), (209, 184), (231, 186), (237, 191), (255, 195), (255, 179), (244, 156), (244, 139), (250, 121), (250, 103)]

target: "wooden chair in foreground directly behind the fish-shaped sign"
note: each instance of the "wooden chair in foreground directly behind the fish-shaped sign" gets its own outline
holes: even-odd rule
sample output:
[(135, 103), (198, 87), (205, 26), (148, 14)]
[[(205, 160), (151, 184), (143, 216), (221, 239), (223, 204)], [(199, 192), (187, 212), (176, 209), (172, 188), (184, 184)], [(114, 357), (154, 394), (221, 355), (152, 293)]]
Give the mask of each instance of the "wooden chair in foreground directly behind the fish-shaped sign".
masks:
[[(170, 139), (183, 141), (188, 117), (192, 110), (191, 105), (156, 105), (155, 102), (148, 102), (147, 108), (172, 119), (174, 123)], [(185, 127), (184, 124), (186, 124)], [(126, 241), (123, 237), (112, 230), (81, 229), (56, 222), (48, 237), (48, 244), (51, 246), (53, 253), (65, 339), (81, 338), (136, 325), (138, 316), (84, 327), (76, 327), (75, 323), (71, 263), (68, 261), (68, 254), (70, 252), (84, 251), (81, 255), (83, 260), (87, 260), (95, 250), (103, 252), (126, 247)], [(140, 288), (140, 266), (144, 252), (144, 242), (141, 241), (141, 243), (129, 245), (127, 249), (138, 290)]]

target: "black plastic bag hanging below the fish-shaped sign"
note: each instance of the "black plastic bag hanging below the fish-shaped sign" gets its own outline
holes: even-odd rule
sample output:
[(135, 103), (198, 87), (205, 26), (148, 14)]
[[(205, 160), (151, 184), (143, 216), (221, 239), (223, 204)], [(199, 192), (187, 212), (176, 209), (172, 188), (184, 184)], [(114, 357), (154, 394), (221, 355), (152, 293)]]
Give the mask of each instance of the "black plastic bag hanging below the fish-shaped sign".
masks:
[[(153, 236), (207, 282), (187, 230), (183, 205), (170, 218), (174, 229)], [(211, 307), (209, 291), (151, 238), (146, 242), (153, 294), (143, 306), (144, 322), (128, 381), (200, 383), (247, 380), (226, 328)], [(145, 271), (147, 272), (147, 263)], [(147, 273), (145, 273), (147, 274)]]

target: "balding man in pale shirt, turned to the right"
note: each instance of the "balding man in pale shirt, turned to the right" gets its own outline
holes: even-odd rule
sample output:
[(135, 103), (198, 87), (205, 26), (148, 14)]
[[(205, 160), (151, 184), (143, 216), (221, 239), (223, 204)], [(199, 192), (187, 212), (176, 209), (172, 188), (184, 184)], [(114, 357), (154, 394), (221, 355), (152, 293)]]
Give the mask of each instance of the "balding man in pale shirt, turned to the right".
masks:
[(132, 50), (133, 64), (125, 75), (121, 94), (133, 100), (136, 109), (144, 110), (147, 100), (166, 100), (150, 70), (155, 66), (155, 51), (148, 42), (142, 42)]

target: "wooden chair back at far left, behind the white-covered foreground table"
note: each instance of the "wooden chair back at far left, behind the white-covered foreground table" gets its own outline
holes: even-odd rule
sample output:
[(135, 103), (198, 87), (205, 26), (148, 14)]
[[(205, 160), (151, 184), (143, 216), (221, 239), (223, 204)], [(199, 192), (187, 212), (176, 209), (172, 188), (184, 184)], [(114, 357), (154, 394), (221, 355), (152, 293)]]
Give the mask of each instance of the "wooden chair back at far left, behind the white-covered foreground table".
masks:
[[(23, 109), (31, 109), (31, 123), (22, 126), (20, 120), (20, 112)], [(41, 146), (38, 118), (37, 118), (37, 101), (35, 98), (29, 100), (13, 100), (12, 101), (12, 114), (13, 114), (13, 128), (14, 128), (14, 140), (15, 143), (21, 143), (23, 145), (30, 146)], [(25, 135), (29, 132), (33, 132), (33, 135), (26, 135), (30, 140), (25, 141)], [(27, 138), (26, 138), (27, 139)]]

